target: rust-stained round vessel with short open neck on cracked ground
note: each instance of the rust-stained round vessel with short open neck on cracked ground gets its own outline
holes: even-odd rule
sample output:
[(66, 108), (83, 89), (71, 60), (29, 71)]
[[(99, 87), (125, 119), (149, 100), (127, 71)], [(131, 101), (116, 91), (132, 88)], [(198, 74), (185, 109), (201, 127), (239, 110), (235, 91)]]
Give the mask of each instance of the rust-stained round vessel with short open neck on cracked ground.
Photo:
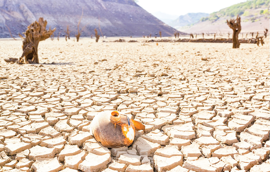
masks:
[(142, 123), (112, 110), (98, 113), (91, 127), (95, 139), (108, 148), (130, 146), (135, 138), (135, 130), (145, 130)]

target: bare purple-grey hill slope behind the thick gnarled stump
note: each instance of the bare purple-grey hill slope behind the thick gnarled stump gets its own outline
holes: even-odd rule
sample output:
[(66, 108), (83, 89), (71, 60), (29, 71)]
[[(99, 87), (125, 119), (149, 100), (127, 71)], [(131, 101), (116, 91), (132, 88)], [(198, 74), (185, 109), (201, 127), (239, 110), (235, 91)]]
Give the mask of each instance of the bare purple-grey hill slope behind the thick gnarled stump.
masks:
[[(94, 29), (101, 28), (101, 36), (143, 36), (159, 31), (163, 36), (171, 36), (175, 29), (158, 20), (133, 0), (1, 0), (0, 1), (0, 38), (10, 37), (7, 25), (13, 36), (26, 30), (27, 26), (44, 17), (47, 26), (56, 27), (63, 36), (69, 25), (70, 34), (77, 33), (79, 25), (82, 36), (95, 35)], [(98, 29), (100, 34), (100, 29)]]

